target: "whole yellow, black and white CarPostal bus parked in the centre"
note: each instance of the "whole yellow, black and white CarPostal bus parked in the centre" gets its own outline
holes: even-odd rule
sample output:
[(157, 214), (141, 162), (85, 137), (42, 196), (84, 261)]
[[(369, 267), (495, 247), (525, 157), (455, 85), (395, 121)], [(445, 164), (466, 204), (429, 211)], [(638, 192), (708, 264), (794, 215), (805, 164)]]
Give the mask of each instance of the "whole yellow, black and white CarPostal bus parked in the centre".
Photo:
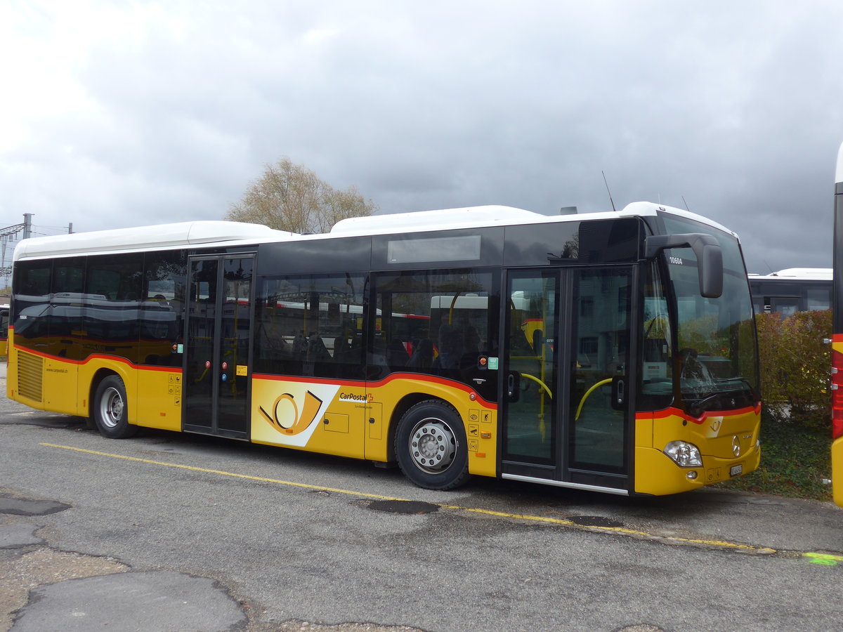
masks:
[(663, 495), (759, 463), (738, 238), (648, 202), (31, 238), (12, 310), (8, 396), (105, 437), (397, 463), (433, 490), (478, 474)]

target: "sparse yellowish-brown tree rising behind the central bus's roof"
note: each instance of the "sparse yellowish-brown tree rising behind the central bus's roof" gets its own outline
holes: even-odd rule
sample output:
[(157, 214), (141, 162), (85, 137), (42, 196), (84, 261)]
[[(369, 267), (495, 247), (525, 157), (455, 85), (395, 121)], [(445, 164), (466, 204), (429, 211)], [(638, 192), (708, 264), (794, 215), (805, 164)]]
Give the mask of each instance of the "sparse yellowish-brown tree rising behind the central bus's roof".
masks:
[(267, 164), (225, 214), (234, 222), (266, 224), (291, 233), (327, 233), (346, 217), (372, 215), (378, 206), (357, 187), (336, 190), (310, 169), (282, 158)]

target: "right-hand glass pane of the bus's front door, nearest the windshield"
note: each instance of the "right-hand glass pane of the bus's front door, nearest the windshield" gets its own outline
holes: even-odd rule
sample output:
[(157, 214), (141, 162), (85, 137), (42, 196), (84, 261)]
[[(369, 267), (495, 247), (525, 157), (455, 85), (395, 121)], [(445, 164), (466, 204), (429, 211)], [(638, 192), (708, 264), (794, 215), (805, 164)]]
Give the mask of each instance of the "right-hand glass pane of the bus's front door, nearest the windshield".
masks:
[(629, 270), (574, 270), (571, 468), (626, 469), (630, 292)]

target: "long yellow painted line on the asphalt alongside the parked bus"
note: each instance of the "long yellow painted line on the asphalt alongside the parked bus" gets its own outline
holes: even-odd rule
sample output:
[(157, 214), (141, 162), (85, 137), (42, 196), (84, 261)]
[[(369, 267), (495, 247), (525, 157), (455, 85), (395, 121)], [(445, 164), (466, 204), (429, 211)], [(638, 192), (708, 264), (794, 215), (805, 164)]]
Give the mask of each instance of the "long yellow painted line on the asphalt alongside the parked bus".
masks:
[[(40, 445), (45, 447), (57, 447), (62, 450), (71, 450), (72, 452), (78, 453), (85, 453), (85, 454), (94, 454), (99, 457), (110, 457), (110, 458), (121, 458), (126, 461), (134, 461), (136, 463), (148, 463), (149, 465), (160, 465), (165, 468), (177, 468), (177, 469), (186, 469), (190, 470), (191, 472), (201, 472), (204, 474), (218, 474), (220, 476), (230, 476), (234, 479), (245, 479), (245, 480), (257, 480), (262, 483), (275, 483), (277, 485), (288, 485), (290, 487), (300, 487), (305, 490), (318, 490), (318, 491), (331, 491), (336, 494), (345, 494), (345, 495), (352, 495), (352, 496), (362, 496), (364, 498), (373, 498), (379, 501), (408, 501), (406, 498), (395, 498), (394, 496), (384, 496), (379, 494), (370, 494), (369, 492), (365, 491), (352, 491), (352, 490), (341, 490), (336, 487), (325, 487), (325, 485), (309, 485), (307, 483), (296, 483), (292, 480), (281, 480), (281, 479), (268, 479), (263, 476), (251, 476), (249, 474), (236, 474), (234, 472), (226, 472), (222, 469), (208, 469), (208, 468), (197, 468), (192, 465), (181, 465), (180, 463), (167, 463), (165, 461), (154, 461), (150, 458), (138, 458), (138, 457), (126, 457), (122, 454), (114, 454), (114, 453), (107, 453), (107, 452), (99, 452), (98, 450), (87, 450), (83, 447), (72, 447), (72, 446), (62, 446), (57, 443), (40, 443)], [(701, 538), (678, 538), (675, 536), (665, 536), (665, 535), (658, 535), (656, 533), (647, 533), (646, 531), (638, 531), (636, 529), (630, 529), (626, 527), (591, 527), (585, 526), (582, 524), (577, 524), (577, 522), (573, 522), (572, 520), (566, 520), (565, 518), (551, 518), (546, 516), (531, 516), (529, 514), (522, 514), (522, 513), (508, 513), (507, 511), (493, 511), (491, 509), (480, 509), (477, 507), (464, 507), (459, 505), (446, 505), (444, 503), (431, 503), (432, 505), (440, 506), (443, 509), (451, 509), (455, 511), (468, 511), (470, 513), (479, 513), (484, 516), (493, 516), (493, 517), (502, 517), (502, 518), (510, 518), (515, 520), (525, 520), (530, 522), (542, 522), (545, 524), (557, 524), (563, 527), (571, 527), (576, 529), (581, 529), (584, 531), (596, 531), (601, 533), (620, 533), (622, 535), (631, 535), (636, 536), (639, 538), (648, 538), (654, 540), (663, 540), (667, 542), (674, 542), (676, 544), (696, 544), (696, 545), (704, 545), (704, 546), (714, 546), (719, 547), (722, 549), (730, 549), (735, 551), (741, 551), (745, 553), (763, 553), (763, 554), (771, 554), (776, 553), (776, 549), (769, 549), (767, 547), (760, 547), (760, 546), (753, 546), (752, 544), (739, 544), (736, 542), (728, 542), (726, 540), (706, 540)], [(813, 553), (806, 553), (808, 557), (811, 556), (820, 556), (820, 554), (813, 554)], [(834, 555), (824, 555), (823, 557), (830, 558), (833, 560), (840, 560), (843, 561), (843, 556), (834, 556)]]

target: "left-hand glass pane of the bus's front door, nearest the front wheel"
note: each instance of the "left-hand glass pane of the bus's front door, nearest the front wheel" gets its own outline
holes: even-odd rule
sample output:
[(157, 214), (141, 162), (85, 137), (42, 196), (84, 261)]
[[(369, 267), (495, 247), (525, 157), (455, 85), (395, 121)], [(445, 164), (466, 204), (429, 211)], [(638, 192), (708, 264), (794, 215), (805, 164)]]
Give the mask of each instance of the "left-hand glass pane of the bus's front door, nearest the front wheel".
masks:
[(556, 384), (553, 336), (559, 312), (558, 273), (510, 276), (504, 356), (506, 458), (555, 463)]

